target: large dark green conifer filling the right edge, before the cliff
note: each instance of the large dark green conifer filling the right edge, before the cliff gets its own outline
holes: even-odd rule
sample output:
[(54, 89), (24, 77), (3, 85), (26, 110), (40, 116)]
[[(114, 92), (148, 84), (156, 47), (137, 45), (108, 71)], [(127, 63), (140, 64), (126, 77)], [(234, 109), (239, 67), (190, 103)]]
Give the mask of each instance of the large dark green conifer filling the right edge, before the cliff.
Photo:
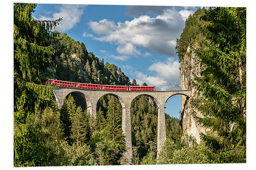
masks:
[(202, 17), (205, 45), (197, 49), (202, 95), (196, 117), (211, 133), (202, 139), (216, 163), (246, 162), (246, 8), (210, 8)]

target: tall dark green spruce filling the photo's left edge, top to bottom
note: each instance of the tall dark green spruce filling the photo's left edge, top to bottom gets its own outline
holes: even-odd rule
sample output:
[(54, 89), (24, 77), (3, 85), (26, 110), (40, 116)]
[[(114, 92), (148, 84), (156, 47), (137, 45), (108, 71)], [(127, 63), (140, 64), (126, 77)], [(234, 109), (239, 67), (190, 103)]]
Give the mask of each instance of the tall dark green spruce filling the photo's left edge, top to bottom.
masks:
[[(42, 143), (35, 138), (35, 115), (51, 105), (51, 88), (44, 88), (44, 73), (53, 65), (50, 55), (58, 35), (50, 30), (61, 19), (38, 21), (31, 15), (35, 4), (14, 3), (14, 166), (40, 165), (44, 158), (38, 148)], [(48, 96), (46, 95), (48, 93)], [(35, 118), (35, 119), (33, 119)]]

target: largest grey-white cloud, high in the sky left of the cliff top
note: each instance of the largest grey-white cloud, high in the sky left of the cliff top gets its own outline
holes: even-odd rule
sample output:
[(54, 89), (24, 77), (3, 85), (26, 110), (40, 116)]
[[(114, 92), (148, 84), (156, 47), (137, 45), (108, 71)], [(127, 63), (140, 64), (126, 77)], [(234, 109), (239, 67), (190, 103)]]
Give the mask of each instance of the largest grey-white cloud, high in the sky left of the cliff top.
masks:
[(155, 8), (159, 13), (156, 17), (142, 15), (117, 23), (102, 19), (90, 21), (89, 28), (99, 35), (94, 37), (95, 40), (116, 43), (119, 54), (142, 55), (138, 46), (169, 57), (175, 56), (176, 39), (184, 28), (184, 17), (190, 11), (179, 12), (174, 7), (148, 7), (148, 11)]

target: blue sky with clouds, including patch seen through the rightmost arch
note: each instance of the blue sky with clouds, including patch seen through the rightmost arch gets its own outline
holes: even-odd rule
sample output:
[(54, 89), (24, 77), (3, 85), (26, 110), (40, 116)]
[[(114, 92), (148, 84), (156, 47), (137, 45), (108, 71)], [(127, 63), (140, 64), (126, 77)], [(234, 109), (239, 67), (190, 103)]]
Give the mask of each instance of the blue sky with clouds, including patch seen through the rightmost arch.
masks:
[[(34, 18), (56, 20), (56, 30), (83, 42), (104, 62), (113, 63), (138, 84), (157, 90), (181, 89), (176, 39), (199, 7), (38, 4)], [(179, 117), (181, 95), (165, 112)]]

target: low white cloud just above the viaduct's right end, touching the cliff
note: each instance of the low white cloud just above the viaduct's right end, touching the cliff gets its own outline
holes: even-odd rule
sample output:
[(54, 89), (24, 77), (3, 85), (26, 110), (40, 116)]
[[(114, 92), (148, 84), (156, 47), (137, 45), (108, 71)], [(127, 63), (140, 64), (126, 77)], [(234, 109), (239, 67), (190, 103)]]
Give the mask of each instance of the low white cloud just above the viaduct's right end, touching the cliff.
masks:
[(156, 86), (158, 90), (176, 90), (181, 89), (179, 77), (179, 62), (173, 59), (167, 59), (164, 62), (152, 64), (148, 70), (155, 72), (154, 76), (147, 76), (142, 72), (136, 72), (136, 81), (138, 84), (147, 83)]

